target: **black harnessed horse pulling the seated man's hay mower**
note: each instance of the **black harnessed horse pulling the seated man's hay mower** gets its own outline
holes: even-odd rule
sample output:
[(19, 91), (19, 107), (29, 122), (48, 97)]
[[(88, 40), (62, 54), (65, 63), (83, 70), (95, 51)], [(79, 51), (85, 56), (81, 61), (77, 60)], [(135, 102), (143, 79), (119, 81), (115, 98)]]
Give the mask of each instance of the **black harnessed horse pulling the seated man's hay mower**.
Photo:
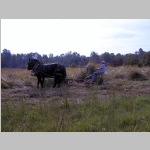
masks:
[(56, 84), (60, 87), (60, 83), (66, 78), (65, 66), (57, 63), (44, 64), (37, 59), (29, 58), (27, 69), (32, 70), (32, 75), (37, 77), (37, 88), (39, 87), (39, 83), (43, 87), (45, 78), (54, 78), (54, 88)]

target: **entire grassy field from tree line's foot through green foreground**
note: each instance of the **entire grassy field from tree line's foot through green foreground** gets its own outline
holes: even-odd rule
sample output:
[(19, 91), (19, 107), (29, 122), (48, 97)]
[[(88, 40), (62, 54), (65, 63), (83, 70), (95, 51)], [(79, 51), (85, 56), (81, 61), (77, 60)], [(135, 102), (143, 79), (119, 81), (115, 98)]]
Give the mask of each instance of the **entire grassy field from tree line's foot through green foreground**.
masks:
[[(67, 68), (79, 78), (85, 68)], [(1, 69), (2, 132), (149, 132), (150, 68), (107, 67), (102, 85), (36, 88), (24, 69)], [(135, 77), (138, 75), (138, 78)]]

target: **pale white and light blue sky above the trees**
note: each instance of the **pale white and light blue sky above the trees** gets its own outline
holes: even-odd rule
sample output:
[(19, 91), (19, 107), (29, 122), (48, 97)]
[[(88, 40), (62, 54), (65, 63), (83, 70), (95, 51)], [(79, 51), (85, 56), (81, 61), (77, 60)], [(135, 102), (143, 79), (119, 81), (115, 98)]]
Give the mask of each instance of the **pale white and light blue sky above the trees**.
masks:
[(150, 19), (1, 19), (1, 52), (114, 54), (150, 51)]

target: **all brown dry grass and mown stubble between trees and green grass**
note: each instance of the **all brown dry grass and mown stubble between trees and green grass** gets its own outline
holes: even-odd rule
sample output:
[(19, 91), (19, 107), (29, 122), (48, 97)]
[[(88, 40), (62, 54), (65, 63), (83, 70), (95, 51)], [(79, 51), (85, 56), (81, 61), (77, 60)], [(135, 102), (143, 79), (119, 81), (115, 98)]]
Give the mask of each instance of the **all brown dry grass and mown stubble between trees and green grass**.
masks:
[[(53, 89), (53, 79), (45, 80), (43, 89), (36, 88), (36, 77), (30, 75), (30, 71), (23, 69), (2, 69), (1, 88), (2, 102), (8, 97), (12, 100), (24, 98), (29, 100), (42, 99), (53, 101), (59, 100), (61, 96), (67, 97), (69, 101), (78, 101), (86, 99), (90, 95), (99, 97), (100, 99), (108, 98), (111, 90), (116, 95), (128, 94), (150, 94), (150, 77), (149, 67), (133, 68), (133, 67), (107, 67), (104, 74), (104, 83), (102, 85), (92, 85), (86, 87), (84, 83), (72, 82), (71, 84), (63, 84), (62, 88)], [(67, 68), (67, 78), (80, 79), (85, 77), (86, 68)], [(138, 79), (138, 80), (137, 80)], [(92, 94), (95, 93), (95, 94)], [(34, 101), (33, 101), (34, 102)]]

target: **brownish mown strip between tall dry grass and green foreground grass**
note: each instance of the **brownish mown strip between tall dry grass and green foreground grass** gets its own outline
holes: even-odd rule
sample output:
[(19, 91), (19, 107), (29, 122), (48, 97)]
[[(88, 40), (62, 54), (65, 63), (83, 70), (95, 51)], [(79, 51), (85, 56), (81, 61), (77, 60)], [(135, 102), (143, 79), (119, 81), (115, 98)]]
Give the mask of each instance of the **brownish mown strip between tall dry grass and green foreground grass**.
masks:
[(1, 89), (1, 103), (11, 100), (24, 100), (28, 105), (35, 105), (40, 102), (61, 102), (67, 99), (71, 103), (81, 103), (86, 100), (107, 100), (112, 96), (134, 96), (150, 95), (150, 81), (113, 81), (104, 82), (102, 85), (86, 86), (83, 83), (62, 85), (61, 88), (24, 86), (22, 88)]

